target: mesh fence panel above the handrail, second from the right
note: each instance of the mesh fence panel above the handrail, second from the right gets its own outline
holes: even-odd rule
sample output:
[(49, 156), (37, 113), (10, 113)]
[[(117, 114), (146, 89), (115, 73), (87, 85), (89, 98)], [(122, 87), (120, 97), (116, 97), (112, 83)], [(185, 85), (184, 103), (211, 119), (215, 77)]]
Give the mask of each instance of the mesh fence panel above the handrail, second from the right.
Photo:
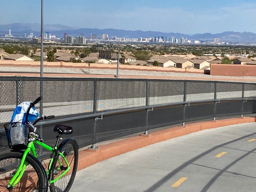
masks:
[(243, 84), (217, 83), (217, 99), (242, 98)]

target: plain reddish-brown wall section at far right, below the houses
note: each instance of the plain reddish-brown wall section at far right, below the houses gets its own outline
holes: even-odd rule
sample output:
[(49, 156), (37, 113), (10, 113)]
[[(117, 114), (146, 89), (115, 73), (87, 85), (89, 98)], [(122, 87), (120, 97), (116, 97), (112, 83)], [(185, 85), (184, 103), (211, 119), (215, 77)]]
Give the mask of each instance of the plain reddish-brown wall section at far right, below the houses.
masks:
[(255, 65), (211, 64), (211, 75), (256, 76)]

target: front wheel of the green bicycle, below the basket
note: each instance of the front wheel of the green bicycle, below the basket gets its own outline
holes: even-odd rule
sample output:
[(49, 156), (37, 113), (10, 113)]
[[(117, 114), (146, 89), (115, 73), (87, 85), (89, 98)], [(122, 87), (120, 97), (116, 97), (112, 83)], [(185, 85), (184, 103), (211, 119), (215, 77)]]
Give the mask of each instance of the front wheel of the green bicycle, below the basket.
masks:
[(47, 192), (48, 181), (45, 170), (40, 162), (30, 155), (27, 155), (25, 162), (27, 166), (17, 185), (6, 188), (14, 172), (20, 166), (23, 152), (11, 152), (0, 155), (0, 191), (1, 192)]

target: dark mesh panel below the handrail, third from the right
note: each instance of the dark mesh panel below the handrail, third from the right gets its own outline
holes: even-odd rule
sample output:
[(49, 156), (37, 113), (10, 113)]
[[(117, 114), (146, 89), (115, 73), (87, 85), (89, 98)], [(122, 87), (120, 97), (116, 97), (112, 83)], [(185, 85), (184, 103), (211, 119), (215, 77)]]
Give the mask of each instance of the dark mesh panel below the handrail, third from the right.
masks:
[(215, 103), (192, 104), (186, 106), (186, 122), (214, 117)]

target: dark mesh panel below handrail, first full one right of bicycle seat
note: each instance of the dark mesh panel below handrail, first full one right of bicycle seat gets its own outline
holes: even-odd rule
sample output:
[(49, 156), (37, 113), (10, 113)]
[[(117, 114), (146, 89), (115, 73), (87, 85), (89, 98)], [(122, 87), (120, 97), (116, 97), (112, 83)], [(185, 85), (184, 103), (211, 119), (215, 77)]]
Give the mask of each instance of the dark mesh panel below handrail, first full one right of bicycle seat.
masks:
[(146, 115), (142, 110), (103, 116), (96, 123), (97, 142), (145, 131)]

